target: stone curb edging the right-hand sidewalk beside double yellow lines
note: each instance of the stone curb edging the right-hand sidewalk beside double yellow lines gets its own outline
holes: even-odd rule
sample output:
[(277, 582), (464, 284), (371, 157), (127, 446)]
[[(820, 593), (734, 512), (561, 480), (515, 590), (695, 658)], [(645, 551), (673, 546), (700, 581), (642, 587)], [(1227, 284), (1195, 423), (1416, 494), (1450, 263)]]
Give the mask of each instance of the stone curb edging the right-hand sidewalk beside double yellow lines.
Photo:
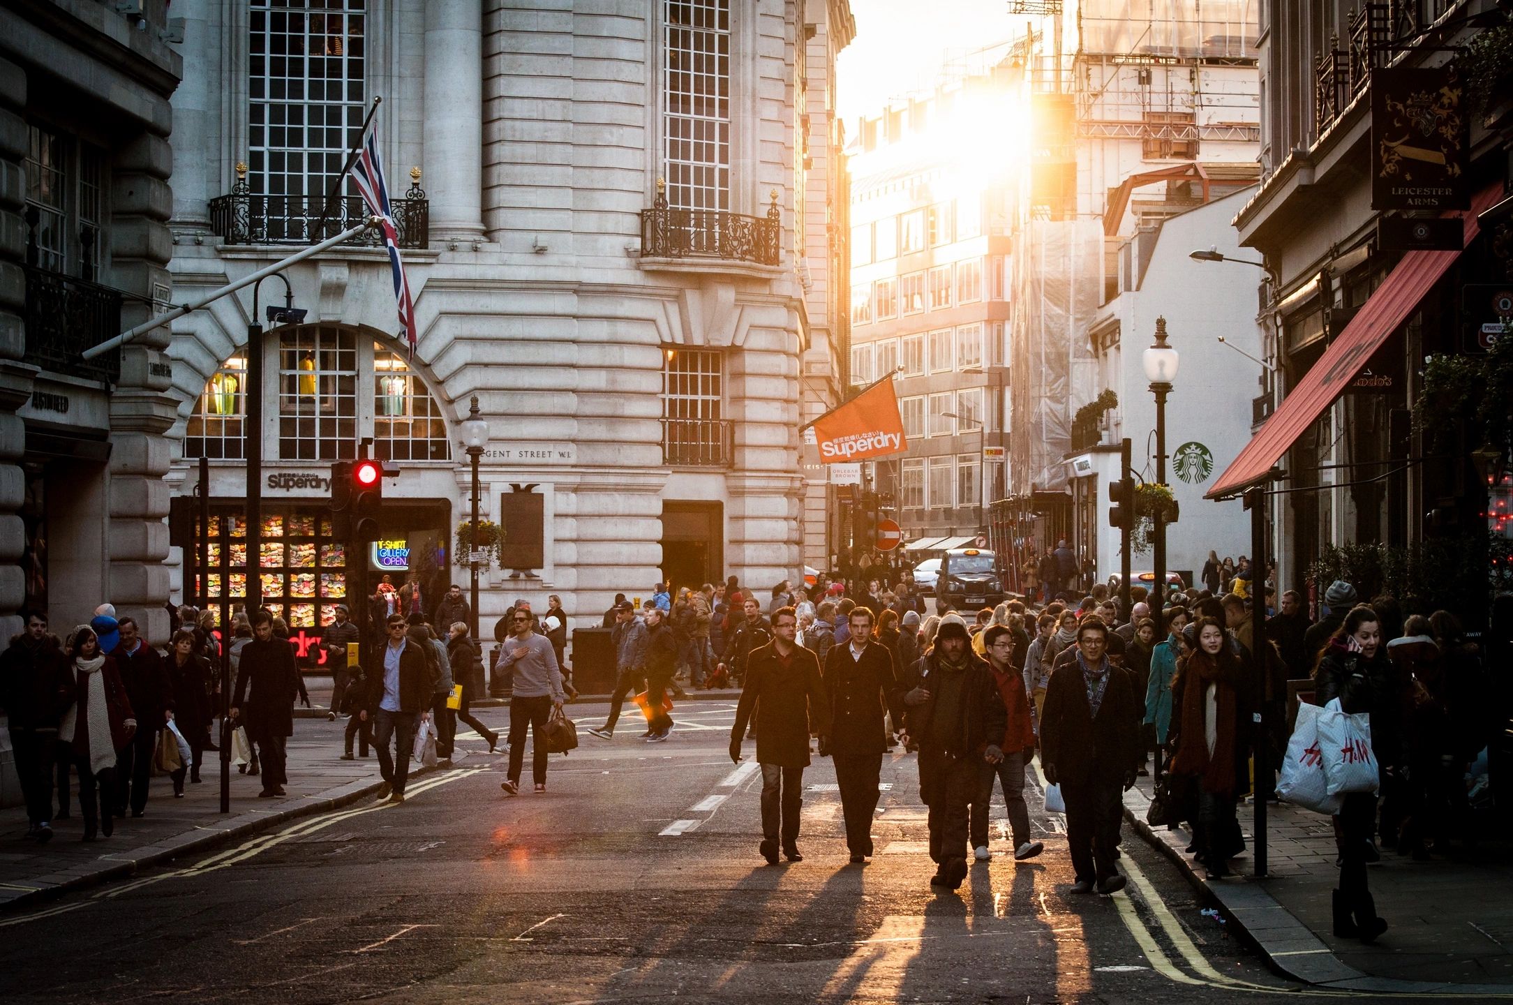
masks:
[[(1204, 896), (1212, 898), (1233, 931), (1260, 954), (1275, 973), (1315, 987), (1378, 994), (1484, 994), (1513, 997), (1508, 984), (1449, 984), (1436, 981), (1401, 981), (1377, 978), (1348, 966), (1307, 925), (1300, 922), (1266, 890), (1265, 879), (1232, 876), (1210, 881), (1206, 870), (1183, 851), (1192, 840), (1191, 831), (1153, 828), (1145, 822), (1150, 796), (1139, 789), (1124, 793), (1124, 819), (1157, 852), (1165, 855)], [(1254, 840), (1254, 839), (1251, 839)], [(1390, 932), (1389, 932), (1390, 934)]]

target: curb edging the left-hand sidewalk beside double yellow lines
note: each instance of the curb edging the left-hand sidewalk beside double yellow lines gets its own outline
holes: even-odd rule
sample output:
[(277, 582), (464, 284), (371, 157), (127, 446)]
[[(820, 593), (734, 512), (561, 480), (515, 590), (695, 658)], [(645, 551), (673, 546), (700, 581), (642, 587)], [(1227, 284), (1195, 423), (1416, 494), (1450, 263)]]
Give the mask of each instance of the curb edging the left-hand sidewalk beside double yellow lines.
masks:
[[(458, 763), (468, 760), (471, 755), (471, 751), (454, 751), (452, 767), (457, 767)], [(410, 778), (419, 778), (437, 770), (445, 769), (412, 766)], [(297, 820), (300, 817), (337, 810), (353, 802), (359, 802), (365, 796), (374, 795), (381, 786), (381, 778), (377, 781), (350, 781), (345, 786), (328, 789), (313, 796), (292, 799), (286, 804), (280, 804), (277, 808), (251, 810), (227, 817), (225, 820), (216, 820), (215, 823), (206, 826), (197, 826), (192, 831), (165, 837), (154, 845), (147, 845), (133, 851), (123, 851), (115, 855), (101, 855), (95, 860), (95, 863), (91, 863), (88, 869), (76, 866), (67, 872), (29, 879), (27, 882), (35, 882), (38, 885), (30, 890), (0, 890), (0, 914), (6, 914), (23, 907), (44, 904), (61, 898), (65, 893), (97, 887), (112, 879), (123, 879), (148, 866), (171, 861), (180, 855), (210, 851), (218, 845), (228, 843), (239, 837), (250, 837), (278, 823), (287, 823), (289, 820)]]

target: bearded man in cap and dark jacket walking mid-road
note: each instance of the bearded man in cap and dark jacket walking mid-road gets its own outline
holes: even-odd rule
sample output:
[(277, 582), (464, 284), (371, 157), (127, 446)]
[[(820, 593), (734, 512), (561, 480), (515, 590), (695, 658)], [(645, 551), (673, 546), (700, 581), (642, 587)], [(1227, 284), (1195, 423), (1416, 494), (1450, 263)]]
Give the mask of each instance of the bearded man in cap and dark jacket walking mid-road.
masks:
[(903, 704), (906, 742), (920, 748), (920, 799), (929, 807), (930, 885), (956, 890), (967, 878), (968, 807), (977, 790), (977, 766), (1003, 760), (999, 743), (1009, 720), (959, 615), (941, 619)]

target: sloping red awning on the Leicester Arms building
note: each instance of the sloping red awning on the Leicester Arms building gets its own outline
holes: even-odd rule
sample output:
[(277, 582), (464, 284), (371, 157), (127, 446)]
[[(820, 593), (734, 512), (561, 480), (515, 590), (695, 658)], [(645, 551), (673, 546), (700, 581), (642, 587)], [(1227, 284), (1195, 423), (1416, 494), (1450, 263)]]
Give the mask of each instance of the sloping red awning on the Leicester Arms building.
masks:
[[(1498, 182), (1471, 200), (1469, 210), (1454, 210), (1446, 216), (1465, 221), (1465, 245), (1481, 232), (1477, 213), (1489, 209), (1502, 195)], [(1272, 465), (1282, 460), (1288, 448), (1318, 421), (1324, 410), (1334, 404), (1356, 374), (1366, 365), (1371, 354), (1407, 321), (1419, 301), (1434, 288), (1460, 251), (1409, 251), (1396, 263), (1387, 278), (1366, 300), (1365, 306), (1350, 319), (1328, 351), (1292, 389), (1275, 413), (1266, 419), (1260, 431), (1251, 437), (1239, 457), (1224, 469), (1213, 487), (1204, 495), (1209, 499), (1232, 496), (1266, 477)]]

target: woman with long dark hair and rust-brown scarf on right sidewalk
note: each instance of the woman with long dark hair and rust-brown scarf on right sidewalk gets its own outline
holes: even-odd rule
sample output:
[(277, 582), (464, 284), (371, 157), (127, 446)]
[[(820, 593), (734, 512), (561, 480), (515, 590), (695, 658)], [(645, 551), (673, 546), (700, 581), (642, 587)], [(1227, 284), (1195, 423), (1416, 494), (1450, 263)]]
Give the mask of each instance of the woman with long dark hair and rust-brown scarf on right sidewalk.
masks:
[(1245, 743), (1241, 733), (1244, 678), (1224, 625), (1213, 618), (1203, 618), (1195, 634), (1197, 649), (1188, 657), (1182, 674), (1180, 743), (1171, 772), (1195, 783), (1197, 860), (1209, 870), (1209, 878), (1216, 878), (1229, 875), (1229, 858), (1239, 851), (1235, 798), (1239, 779), (1245, 776)]

